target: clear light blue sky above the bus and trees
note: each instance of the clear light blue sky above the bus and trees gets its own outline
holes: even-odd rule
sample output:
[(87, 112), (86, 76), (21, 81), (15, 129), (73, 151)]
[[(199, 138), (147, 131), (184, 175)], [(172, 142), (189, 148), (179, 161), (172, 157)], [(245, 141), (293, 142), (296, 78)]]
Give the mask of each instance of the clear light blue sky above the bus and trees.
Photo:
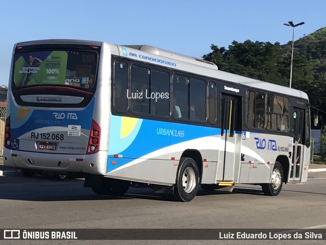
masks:
[(324, 0), (56, 0), (3, 1), (0, 85), (8, 85), (13, 46), (39, 39), (148, 44), (201, 58), (232, 41), (294, 40), (326, 26)]

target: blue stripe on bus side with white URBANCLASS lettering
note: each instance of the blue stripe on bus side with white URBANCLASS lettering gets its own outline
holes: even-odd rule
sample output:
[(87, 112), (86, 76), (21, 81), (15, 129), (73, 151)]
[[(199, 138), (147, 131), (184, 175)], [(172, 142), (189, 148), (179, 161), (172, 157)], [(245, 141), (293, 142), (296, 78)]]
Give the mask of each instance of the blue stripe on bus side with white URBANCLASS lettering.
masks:
[[(166, 148), (181, 142), (207, 137), (218, 136), (220, 129), (195, 125), (176, 124), (148, 119), (137, 120), (129, 133), (124, 131), (121, 116), (111, 116), (110, 142), (108, 155), (122, 155), (124, 158), (137, 159), (151, 152)], [(124, 135), (124, 137), (122, 137)]]

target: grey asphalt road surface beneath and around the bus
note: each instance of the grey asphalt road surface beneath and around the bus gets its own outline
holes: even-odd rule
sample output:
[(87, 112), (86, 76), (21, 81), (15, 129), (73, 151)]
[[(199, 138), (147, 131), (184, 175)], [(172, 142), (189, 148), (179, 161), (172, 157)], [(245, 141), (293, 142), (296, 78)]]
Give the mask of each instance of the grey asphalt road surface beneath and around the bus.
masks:
[[(82, 179), (0, 177), (1, 229), (76, 228), (326, 228), (326, 172), (305, 185), (288, 184), (278, 197), (260, 186), (237, 185), (232, 193), (199, 190), (189, 203), (162, 200), (150, 189), (123, 197), (96, 195)], [(326, 244), (326, 240), (134, 240), (19, 241), (20, 244)], [(18, 244), (17, 241), (0, 241)]]

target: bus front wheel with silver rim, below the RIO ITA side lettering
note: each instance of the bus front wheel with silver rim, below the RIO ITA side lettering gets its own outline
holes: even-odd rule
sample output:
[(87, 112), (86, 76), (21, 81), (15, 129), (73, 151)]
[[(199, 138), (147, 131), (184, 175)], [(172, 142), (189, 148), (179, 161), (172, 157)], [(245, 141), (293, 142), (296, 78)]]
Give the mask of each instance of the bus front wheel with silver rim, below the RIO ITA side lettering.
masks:
[(261, 188), (265, 195), (276, 196), (280, 194), (283, 185), (283, 168), (279, 162), (274, 164), (271, 175), (271, 183), (262, 184)]

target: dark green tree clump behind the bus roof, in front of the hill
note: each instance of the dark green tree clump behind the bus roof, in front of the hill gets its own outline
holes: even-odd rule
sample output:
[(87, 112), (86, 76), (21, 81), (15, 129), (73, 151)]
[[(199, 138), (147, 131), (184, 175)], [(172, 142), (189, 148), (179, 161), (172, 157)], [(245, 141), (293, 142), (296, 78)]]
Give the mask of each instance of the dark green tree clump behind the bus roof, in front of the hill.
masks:
[[(281, 46), (279, 42), (272, 44), (247, 40), (243, 43), (233, 41), (228, 50), (214, 44), (211, 45), (211, 49), (212, 52), (204, 55), (203, 58), (215, 63), (220, 70), (289, 86), (291, 49), (288, 46)], [(295, 50), (292, 87), (316, 95), (317, 84), (314, 82), (313, 67), (312, 61), (308, 61), (305, 55)]]

